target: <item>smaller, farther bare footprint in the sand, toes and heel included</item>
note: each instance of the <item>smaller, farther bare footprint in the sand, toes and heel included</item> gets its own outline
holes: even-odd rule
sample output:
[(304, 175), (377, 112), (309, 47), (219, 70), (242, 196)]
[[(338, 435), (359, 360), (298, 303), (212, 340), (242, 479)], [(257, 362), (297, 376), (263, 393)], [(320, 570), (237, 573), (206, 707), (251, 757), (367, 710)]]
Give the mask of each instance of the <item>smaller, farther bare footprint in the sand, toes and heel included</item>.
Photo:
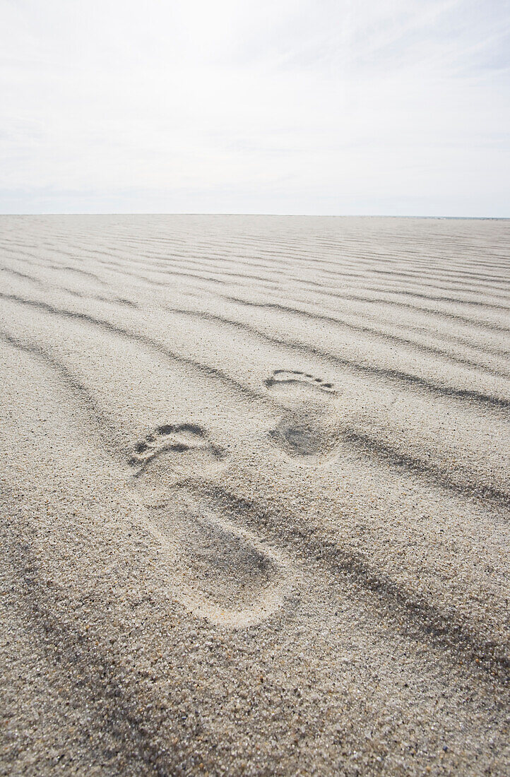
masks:
[(302, 463), (316, 465), (332, 458), (341, 440), (331, 408), (337, 395), (333, 383), (297, 370), (274, 370), (265, 385), (271, 391), (285, 390), (287, 409), (277, 427), (269, 432), (271, 441)]

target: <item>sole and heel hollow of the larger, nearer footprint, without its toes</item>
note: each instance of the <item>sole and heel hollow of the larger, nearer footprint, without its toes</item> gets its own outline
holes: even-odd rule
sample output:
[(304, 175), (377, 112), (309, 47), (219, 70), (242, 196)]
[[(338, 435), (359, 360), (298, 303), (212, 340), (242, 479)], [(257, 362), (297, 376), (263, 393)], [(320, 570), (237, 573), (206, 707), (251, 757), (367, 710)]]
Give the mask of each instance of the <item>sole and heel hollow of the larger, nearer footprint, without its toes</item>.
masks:
[(179, 601), (195, 615), (245, 628), (290, 605), (295, 575), (285, 554), (239, 528), (214, 498), (176, 487), (149, 514)]

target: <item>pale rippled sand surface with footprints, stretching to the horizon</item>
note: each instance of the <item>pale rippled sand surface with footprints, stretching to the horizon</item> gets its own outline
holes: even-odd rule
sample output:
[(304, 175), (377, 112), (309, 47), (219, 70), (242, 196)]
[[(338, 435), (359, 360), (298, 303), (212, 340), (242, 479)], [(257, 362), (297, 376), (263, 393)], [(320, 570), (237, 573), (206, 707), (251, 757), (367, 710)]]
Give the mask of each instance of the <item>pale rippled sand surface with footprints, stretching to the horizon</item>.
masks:
[(0, 218), (2, 774), (508, 774), (509, 249)]

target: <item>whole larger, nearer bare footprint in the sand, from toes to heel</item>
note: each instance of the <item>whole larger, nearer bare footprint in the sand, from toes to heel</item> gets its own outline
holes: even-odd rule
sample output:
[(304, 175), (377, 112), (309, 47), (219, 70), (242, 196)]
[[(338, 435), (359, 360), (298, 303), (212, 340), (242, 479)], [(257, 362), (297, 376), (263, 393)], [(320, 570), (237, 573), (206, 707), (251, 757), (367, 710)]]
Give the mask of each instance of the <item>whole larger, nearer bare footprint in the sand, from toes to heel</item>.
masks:
[(212, 474), (225, 451), (194, 423), (157, 427), (129, 464), (148, 531), (168, 554), (179, 601), (216, 625), (242, 628), (277, 611), (292, 591), (291, 565), (239, 528), (211, 498), (179, 481)]

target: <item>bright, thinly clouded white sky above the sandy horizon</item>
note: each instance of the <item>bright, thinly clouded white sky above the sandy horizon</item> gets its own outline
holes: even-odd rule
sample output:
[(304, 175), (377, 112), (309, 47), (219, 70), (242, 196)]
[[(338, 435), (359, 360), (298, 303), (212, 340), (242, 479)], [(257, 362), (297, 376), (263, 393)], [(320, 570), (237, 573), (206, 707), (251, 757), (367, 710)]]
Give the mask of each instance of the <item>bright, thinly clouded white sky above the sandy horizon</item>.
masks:
[(508, 0), (0, 0), (0, 213), (510, 216)]

